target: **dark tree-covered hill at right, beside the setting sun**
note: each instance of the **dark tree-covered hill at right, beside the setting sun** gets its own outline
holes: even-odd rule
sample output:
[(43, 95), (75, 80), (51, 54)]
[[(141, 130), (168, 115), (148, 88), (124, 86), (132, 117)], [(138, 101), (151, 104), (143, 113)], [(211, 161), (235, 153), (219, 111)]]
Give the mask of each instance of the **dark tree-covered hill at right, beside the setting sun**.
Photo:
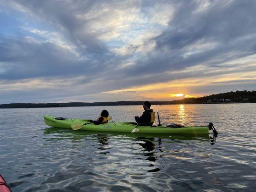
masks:
[(184, 98), (171, 101), (171, 104), (202, 104), (202, 103), (249, 103), (256, 102), (256, 91), (235, 91), (213, 94), (210, 96)]

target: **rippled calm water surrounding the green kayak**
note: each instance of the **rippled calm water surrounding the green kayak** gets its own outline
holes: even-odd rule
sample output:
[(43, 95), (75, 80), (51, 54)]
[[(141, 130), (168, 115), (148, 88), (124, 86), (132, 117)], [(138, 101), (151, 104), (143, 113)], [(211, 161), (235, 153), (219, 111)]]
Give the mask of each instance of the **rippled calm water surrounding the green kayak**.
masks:
[[(256, 103), (152, 106), (217, 138), (49, 128), (43, 115), (133, 121), (142, 106), (0, 109), (0, 173), (13, 192), (256, 190)], [(209, 136), (212, 136), (210, 134)]]

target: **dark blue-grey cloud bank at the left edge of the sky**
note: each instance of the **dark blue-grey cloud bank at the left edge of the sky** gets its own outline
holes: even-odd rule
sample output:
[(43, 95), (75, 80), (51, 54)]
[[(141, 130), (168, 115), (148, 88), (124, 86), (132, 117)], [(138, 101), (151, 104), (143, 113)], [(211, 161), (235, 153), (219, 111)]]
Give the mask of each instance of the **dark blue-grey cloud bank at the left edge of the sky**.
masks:
[[(54, 42), (39, 42), (28, 37), (2, 38), (2, 41), (0, 62), (5, 73), (0, 79), (63, 75), (69, 70), (75, 73), (85, 68), (83, 62), (77, 61), (77, 57), (69, 49)], [(72, 73), (67, 76), (70, 74)]]

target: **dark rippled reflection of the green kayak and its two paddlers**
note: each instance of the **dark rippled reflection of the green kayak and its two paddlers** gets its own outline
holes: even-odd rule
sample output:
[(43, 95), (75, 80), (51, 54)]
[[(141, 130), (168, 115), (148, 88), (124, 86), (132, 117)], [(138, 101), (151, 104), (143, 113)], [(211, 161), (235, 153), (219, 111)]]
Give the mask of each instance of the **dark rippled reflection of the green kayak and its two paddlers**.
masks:
[[(98, 143), (92, 144), (92, 146), (97, 145), (97, 149), (101, 150), (98, 154), (110, 155), (110, 150), (112, 148), (111, 140), (114, 138), (114, 144), (119, 144), (119, 141), (124, 140), (127, 145), (134, 146), (136, 151), (135, 155), (137, 159), (147, 160), (156, 162), (159, 158), (164, 156), (164, 150), (162, 143), (181, 143), (188, 141), (200, 141), (200, 142), (209, 142), (208, 144), (214, 144), (215, 140), (213, 137), (207, 135), (202, 135), (201, 137), (195, 137), (194, 135), (166, 135), (166, 134), (156, 134), (158, 137), (152, 137), (150, 134), (141, 134), (141, 133), (119, 133), (119, 132), (110, 132), (108, 134), (103, 134), (98, 132), (85, 132), (85, 131), (73, 131), (60, 128), (46, 128), (45, 134), (54, 135), (54, 139), (72, 139), (73, 141), (80, 140), (83, 143), (85, 140), (91, 140), (92, 138), (97, 138)], [(47, 139), (47, 138), (46, 138)], [(211, 140), (210, 140), (211, 139)], [(162, 141), (163, 140), (163, 141)], [(137, 148), (137, 146), (141, 146)], [(117, 145), (115, 147), (118, 147)], [(127, 157), (130, 157), (131, 154), (128, 154)], [(112, 158), (112, 157), (110, 157)], [(105, 159), (101, 158), (101, 159)], [(153, 167), (153, 164), (148, 165)], [(148, 172), (157, 172), (161, 168), (153, 168), (147, 170)]]

